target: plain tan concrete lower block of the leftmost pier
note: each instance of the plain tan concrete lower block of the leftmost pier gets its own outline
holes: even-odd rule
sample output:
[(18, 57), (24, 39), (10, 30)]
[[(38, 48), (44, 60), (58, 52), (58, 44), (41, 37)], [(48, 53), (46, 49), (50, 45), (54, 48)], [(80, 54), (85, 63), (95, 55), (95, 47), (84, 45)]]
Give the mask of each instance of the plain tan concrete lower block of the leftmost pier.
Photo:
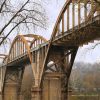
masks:
[(18, 100), (18, 84), (7, 83), (5, 85), (3, 100)]

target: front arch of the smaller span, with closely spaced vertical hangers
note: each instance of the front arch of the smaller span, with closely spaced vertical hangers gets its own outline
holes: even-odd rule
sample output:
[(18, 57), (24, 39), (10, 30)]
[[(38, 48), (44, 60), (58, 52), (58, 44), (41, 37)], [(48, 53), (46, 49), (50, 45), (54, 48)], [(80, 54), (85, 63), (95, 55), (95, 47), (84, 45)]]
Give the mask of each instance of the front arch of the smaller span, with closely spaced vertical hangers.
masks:
[(28, 42), (26, 41), (23, 35), (16, 36), (11, 45), (7, 62), (10, 62), (11, 60), (15, 59), (19, 55), (24, 54), (26, 52), (28, 53), (28, 57), (31, 62), (32, 59), (31, 59), (30, 47), (28, 45)]

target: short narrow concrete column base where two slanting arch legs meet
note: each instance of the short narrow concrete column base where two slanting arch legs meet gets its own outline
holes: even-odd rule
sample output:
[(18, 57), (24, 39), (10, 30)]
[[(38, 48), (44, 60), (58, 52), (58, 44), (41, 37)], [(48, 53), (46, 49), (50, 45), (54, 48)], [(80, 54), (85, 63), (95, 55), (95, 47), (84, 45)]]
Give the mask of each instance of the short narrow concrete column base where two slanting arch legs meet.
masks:
[(31, 100), (41, 100), (41, 89), (38, 87), (33, 87), (31, 90), (32, 98)]

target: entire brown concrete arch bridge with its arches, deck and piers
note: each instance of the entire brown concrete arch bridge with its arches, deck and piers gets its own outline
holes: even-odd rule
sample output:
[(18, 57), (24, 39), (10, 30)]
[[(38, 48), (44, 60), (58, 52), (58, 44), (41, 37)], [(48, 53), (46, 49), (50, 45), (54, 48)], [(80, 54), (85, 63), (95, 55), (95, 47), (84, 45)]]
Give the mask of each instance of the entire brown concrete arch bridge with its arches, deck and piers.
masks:
[(49, 41), (33, 34), (14, 39), (3, 61), (2, 99), (68, 100), (79, 46), (99, 38), (100, 5), (95, 0), (67, 0)]

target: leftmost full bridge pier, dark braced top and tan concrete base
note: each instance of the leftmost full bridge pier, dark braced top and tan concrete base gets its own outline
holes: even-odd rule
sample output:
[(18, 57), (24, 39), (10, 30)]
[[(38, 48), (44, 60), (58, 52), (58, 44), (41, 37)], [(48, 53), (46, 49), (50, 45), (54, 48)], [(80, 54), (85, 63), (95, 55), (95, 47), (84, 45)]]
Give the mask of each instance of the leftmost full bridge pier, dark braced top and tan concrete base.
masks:
[(5, 83), (2, 92), (2, 100), (23, 100), (21, 99), (21, 78), (23, 68), (8, 66), (5, 76)]

